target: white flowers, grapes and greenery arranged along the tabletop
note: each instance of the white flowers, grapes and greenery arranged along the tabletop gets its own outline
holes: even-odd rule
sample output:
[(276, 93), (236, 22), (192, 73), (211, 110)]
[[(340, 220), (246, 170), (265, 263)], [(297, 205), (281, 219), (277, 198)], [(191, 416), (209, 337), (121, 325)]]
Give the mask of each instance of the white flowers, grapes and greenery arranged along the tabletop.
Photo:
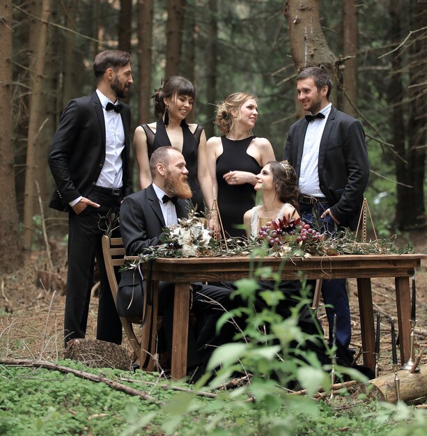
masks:
[[(299, 217), (274, 219), (260, 227), (255, 238), (227, 238), (218, 240), (208, 228), (206, 219), (191, 210), (178, 224), (165, 227), (161, 244), (144, 249), (139, 262), (154, 258), (189, 258), (199, 256), (249, 256), (254, 251), (262, 256), (288, 258), (292, 256), (334, 256), (337, 254), (402, 254), (407, 249), (397, 249), (393, 238), (359, 242), (352, 232), (339, 231), (330, 236)], [(316, 226), (316, 224), (314, 224)]]

